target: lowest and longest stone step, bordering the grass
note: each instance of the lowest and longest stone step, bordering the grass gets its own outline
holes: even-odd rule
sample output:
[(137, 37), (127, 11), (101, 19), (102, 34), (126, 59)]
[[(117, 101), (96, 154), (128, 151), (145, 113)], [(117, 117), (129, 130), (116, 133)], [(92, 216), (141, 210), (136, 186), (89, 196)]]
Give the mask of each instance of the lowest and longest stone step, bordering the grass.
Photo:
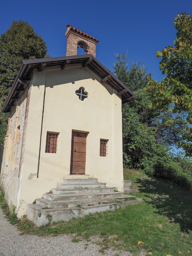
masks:
[(48, 222), (58, 222), (60, 220), (71, 220), (72, 218), (83, 217), (89, 213), (103, 212), (103, 211), (114, 211), (119, 207), (126, 207), (127, 204), (134, 204), (141, 202), (137, 198), (134, 200), (127, 201), (122, 204), (121, 202), (113, 202), (107, 204), (87, 205), (84, 207), (62, 207), (43, 209), (38, 204), (27, 205), (27, 218), (31, 220), (36, 226), (45, 225)]

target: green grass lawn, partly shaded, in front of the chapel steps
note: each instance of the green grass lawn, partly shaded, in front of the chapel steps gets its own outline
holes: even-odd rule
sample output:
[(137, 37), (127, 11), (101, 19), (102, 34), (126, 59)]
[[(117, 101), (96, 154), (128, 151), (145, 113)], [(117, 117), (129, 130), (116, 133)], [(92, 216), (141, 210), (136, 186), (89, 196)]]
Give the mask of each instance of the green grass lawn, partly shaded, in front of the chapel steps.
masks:
[[(22, 234), (74, 234), (74, 242), (98, 236), (100, 253), (113, 246), (134, 255), (142, 250), (154, 256), (175, 256), (179, 251), (183, 256), (192, 255), (192, 194), (142, 172), (124, 170), (124, 176), (138, 187), (139, 192), (133, 195), (143, 198), (143, 203), (43, 227), (23, 218), (18, 228)], [(138, 245), (138, 241), (143, 244)]]

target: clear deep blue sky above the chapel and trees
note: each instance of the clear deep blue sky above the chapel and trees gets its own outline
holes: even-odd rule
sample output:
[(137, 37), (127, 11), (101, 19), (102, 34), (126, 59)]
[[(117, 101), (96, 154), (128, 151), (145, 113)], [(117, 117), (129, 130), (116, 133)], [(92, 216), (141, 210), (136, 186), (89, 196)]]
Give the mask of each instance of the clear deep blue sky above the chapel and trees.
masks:
[(66, 26), (70, 24), (99, 40), (96, 58), (112, 72), (115, 54), (128, 50), (129, 64), (144, 63), (161, 81), (155, 54), (176, 39), (177, 13), (192, 15), (192, 0), (2, 0), (0, 34), (13, 20), (28, 22), (52, 57), (65, 56)]

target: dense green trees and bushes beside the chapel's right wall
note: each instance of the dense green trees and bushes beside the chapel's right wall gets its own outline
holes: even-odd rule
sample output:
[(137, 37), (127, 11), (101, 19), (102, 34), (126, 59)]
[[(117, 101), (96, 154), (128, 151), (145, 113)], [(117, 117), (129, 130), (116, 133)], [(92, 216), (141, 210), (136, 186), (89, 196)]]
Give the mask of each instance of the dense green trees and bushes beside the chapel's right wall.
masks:
[(188, 157), (173, 155), (171, 146), (182, 142), (187, 124), (183, 112), (173, 113), (149, 108), (151, 91), (145, 91), (147, 79), (144, 65), (128, 67), (127, 54), (116, 55), (115, 74), (137, 95), (137, 99), (122, 107), (124, 167), (141, 168), (148, 175), (163, 177), (192, 190), (192, 162)]

